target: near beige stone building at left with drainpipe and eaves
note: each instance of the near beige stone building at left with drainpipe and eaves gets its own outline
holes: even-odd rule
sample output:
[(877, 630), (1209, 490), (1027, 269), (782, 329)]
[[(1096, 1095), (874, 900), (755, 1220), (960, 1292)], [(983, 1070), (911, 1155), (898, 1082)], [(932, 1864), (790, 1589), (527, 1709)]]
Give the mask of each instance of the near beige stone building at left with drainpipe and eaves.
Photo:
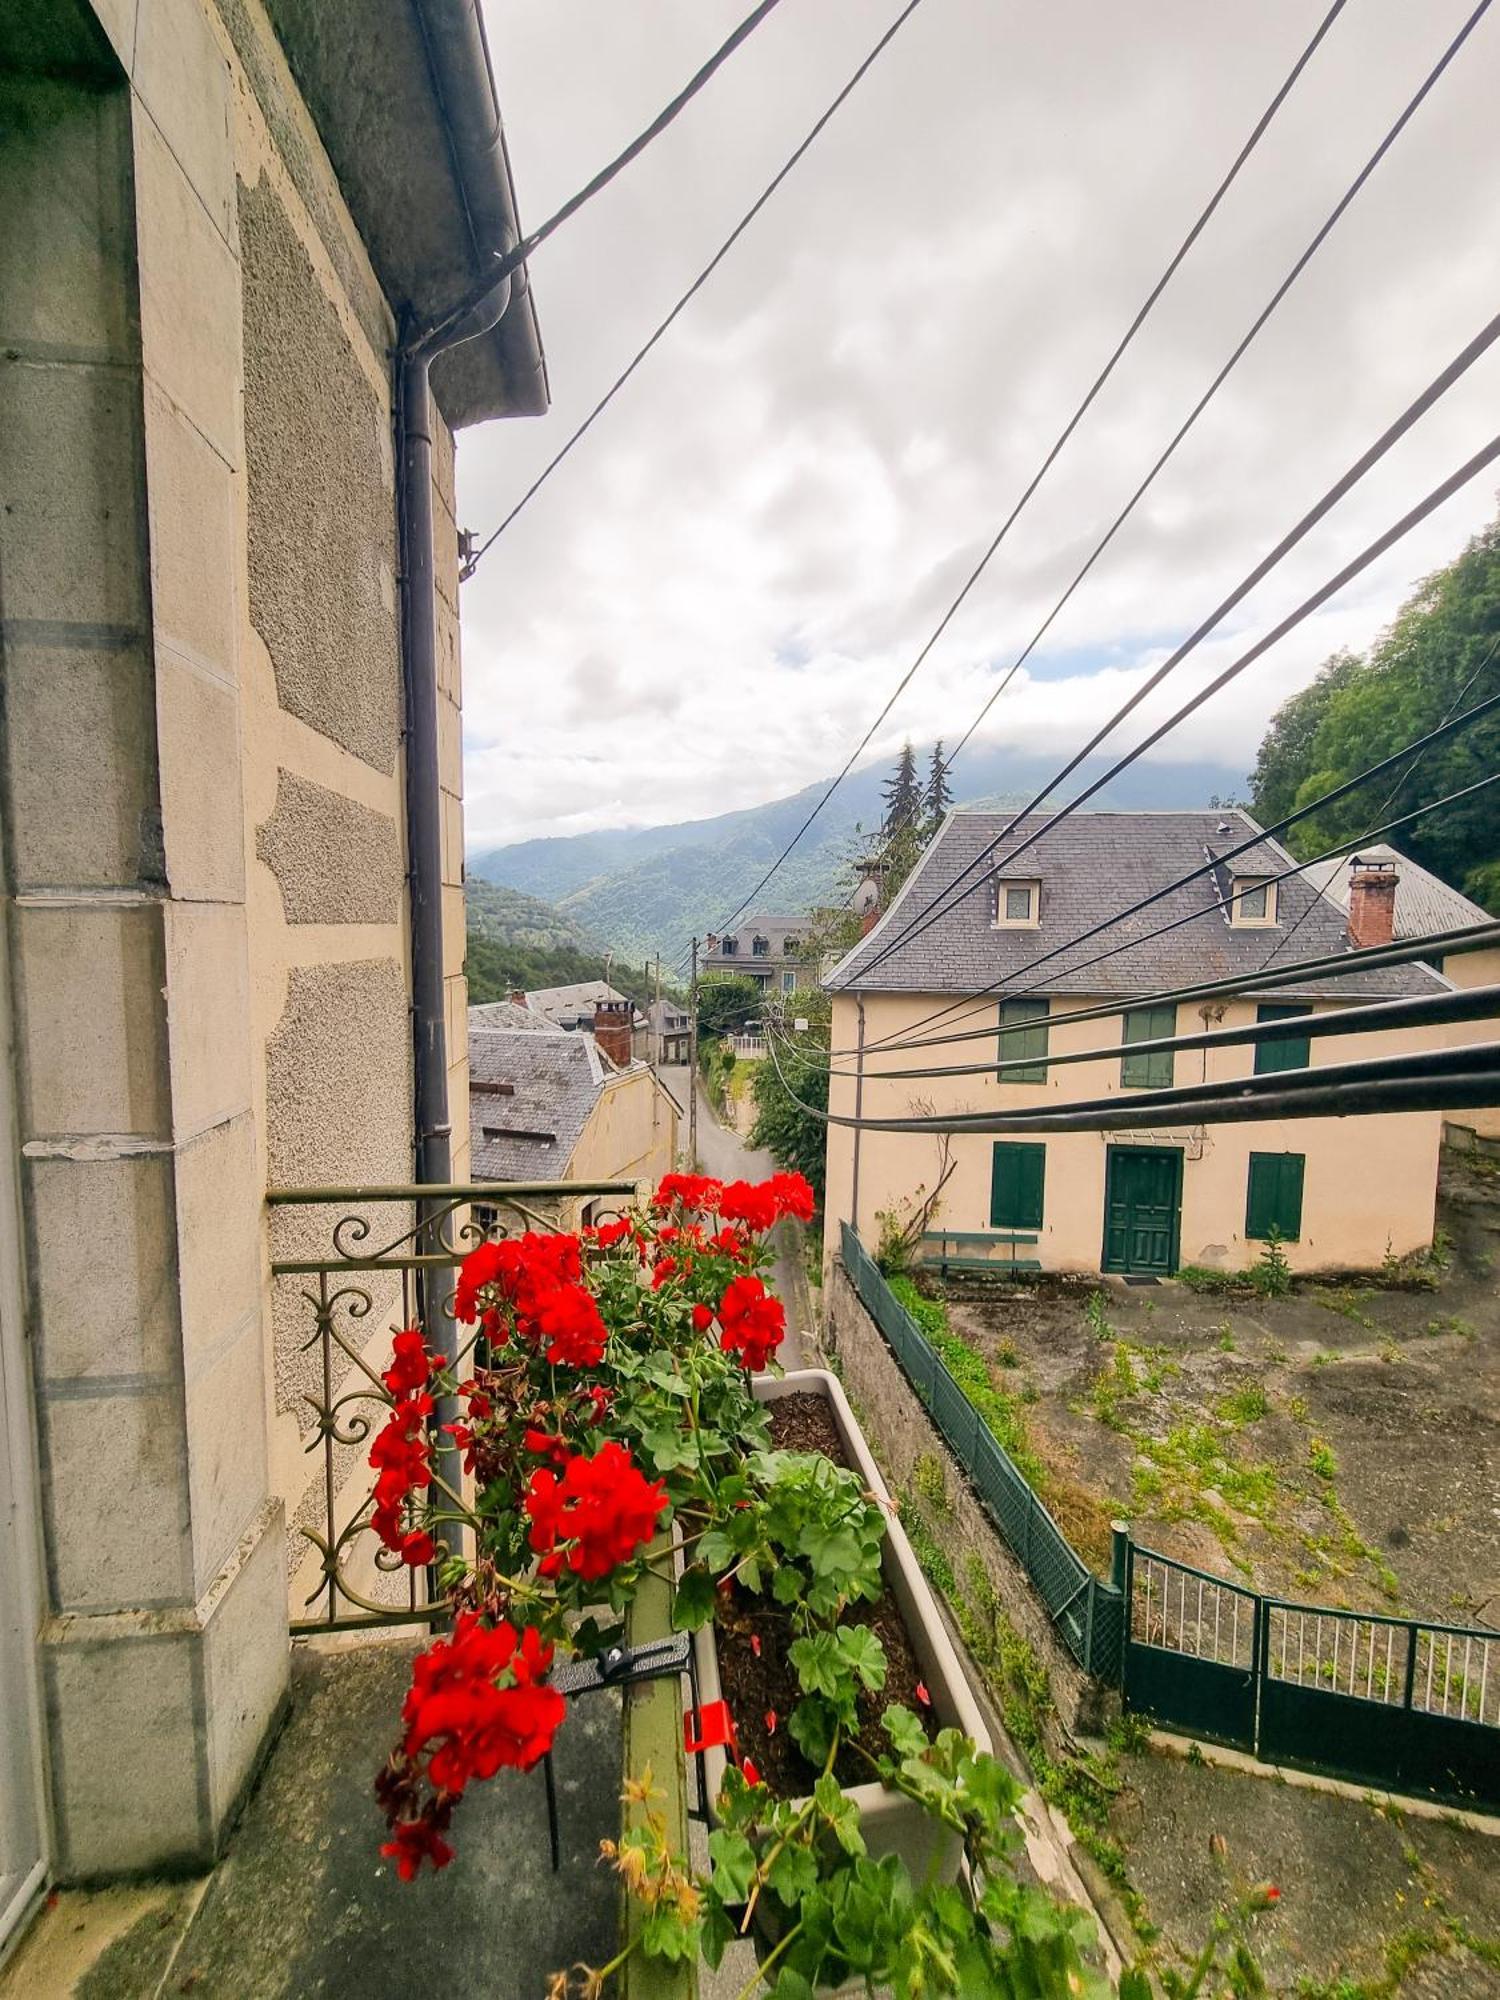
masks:
[(524, 270), (404, 344), (518, 236), (474, 0), (4, 6), (0, 190), (2, 1940), (206, 1864), (286, 1700), (266, 1190), (468, 1172), (454, 432), (546, 376)]

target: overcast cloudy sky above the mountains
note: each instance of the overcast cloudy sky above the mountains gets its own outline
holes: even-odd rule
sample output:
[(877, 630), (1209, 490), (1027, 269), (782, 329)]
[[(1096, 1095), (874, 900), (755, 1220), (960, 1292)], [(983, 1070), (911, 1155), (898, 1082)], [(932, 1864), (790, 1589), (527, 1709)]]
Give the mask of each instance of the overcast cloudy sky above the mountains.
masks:
[[(962, 734), (1470, 4), (1348, 0), (872, 758)], [(1324, 10), (922, 0), (464, 586), (470, 848), (726, 812), (836, 770)], [(744, 12), (490, 0), (522, 222)], [(466, 526), (514, 502), (896, 12), (782, 0), (536, 254), (552, 412), (464, 436)], [(1500, 8), (996, 704), (990, 740), (1080, 742), (1496, 310), (1498, 74)], [(1496, 410), (1490, 354), (1172, 676), (1172, 702), (1476, 450)], [(1494, 512), (1496, 484), (1434, 514), (1170, 754), (1246, 768), (1274, 706), (1336, 646), (1368, 644)]]

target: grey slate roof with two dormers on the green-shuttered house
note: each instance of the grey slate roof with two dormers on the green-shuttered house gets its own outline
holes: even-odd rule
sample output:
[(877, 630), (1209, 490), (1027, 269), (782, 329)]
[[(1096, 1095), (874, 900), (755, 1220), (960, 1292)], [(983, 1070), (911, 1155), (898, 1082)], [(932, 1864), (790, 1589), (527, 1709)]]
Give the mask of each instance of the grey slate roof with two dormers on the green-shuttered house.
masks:
[[(978, 994), (990, 988), (1004, 992), (1006, 984), (1012, 984), (1036, 992), (1112, 998), (1238, 974), (1244, 976), (1246, 988), (1254, 988), (1254, 974), (1282, 940), (1288, 942), (1276, 952), (1272, 966), (1348, 950), (1344, 912), (1296, 874), (1278, 886), (1276, 928), (1230, 928), (1222, 900), (1230, 892), (1230, 876), (1278, 874), (1292, 866), (1292, 856), (1280, 842), (1260, 838), (1228, 868), (1216, 868), (1214, 874), (1172, 890), (1138, 916), (1112, 924), (1100, 936), (1032, 970), (1044, 952), (1070, 944), (1124, 904), (1166, 888), (1250, 834), (1260, 834), (1256, 822), (1238, 808), (1074, 812), (1052, 832), (1042, 834), (1014, 868), (1006, 868), (1004, 856), (1016, 842), (1034, 826), (1046, 824), (1044, 814), (1034, 814), (1022, 820), (986, 868), (970, 878), (980, 884), (974, 894), (954, 904), (918, 936), (898, 944), (890, 958), (862, 976), (862, 968), (882, 944), (930, 908), (938, 892), (1000, 834), (1008, 818), (1004, 812), (952, 812), (890, 910), (868, 938), (838, 962), (826, 984), (844, 992), (918, 994)], [(1042, 884), (1038, 928), (1012, 930), (992, 922), (996, 876)], [(1148, 936), (1176, 918), (1192, 920), (1164, 936)], [(1296, 926), (1294, 936), (1290, 936), (1292, 926)], [(1122, 950), (1112, 958), (1084, 964), (1116, 946)], [(1434, 990), (1446, 992), (1448, 982), (1424, 966), (1390, 966), (1366, 970), (1358, 980), (1324, 978), (1278, 988), (1278, 992), (1344, 1000), (1388, 1000)]]

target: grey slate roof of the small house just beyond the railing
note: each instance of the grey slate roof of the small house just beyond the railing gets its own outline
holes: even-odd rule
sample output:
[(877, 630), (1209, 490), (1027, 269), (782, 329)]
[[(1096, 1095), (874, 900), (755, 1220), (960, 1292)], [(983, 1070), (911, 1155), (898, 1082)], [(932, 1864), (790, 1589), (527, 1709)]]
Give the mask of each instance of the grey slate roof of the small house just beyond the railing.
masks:
[[(474, 1008), (484, 1012), (484, 1008)], [(606, 1078), (620, 1072), (592, 1034), (468, 1028), (468, 1144), (474, 1180), (562, 1180)], [(510, 1084), (508, 1094), (476, 1084)]]

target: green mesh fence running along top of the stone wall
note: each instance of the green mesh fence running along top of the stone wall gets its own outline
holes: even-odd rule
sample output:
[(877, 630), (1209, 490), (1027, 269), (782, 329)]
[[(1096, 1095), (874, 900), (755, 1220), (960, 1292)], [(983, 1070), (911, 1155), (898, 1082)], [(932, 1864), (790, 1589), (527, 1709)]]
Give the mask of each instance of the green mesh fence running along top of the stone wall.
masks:
[(990, 1520), (1036, 1584), (1074, 1660), (1100, 1680), (1118, 1682), (1124, 1596), (1094, 1576), (1072, 1548), (848, 1222), (842, 1226), (842, 1254), (860, 1304), (884, 1334)]

